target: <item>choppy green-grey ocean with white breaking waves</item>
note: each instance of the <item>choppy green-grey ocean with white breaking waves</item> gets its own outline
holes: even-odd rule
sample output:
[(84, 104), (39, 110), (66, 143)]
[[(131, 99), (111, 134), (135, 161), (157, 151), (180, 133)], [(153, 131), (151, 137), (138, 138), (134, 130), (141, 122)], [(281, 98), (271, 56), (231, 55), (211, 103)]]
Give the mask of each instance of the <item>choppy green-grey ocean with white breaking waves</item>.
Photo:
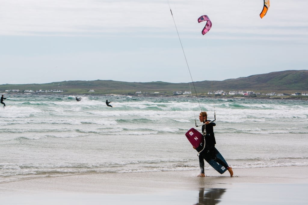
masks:
[[(199, 97), (199, 105), (190, 96), (75, 97), (14, 94), (5, 100), (0, 183), (81, 173), (198, 174), (197, 152), (185, 133), (195, 119), (201, 124), (201, 109), (209, 120), (215, 111), (216, 148), (235, 175), (241, 168), (308, 166), (307, 100)], [(205, 174), (210, 169), (205, 164)]]

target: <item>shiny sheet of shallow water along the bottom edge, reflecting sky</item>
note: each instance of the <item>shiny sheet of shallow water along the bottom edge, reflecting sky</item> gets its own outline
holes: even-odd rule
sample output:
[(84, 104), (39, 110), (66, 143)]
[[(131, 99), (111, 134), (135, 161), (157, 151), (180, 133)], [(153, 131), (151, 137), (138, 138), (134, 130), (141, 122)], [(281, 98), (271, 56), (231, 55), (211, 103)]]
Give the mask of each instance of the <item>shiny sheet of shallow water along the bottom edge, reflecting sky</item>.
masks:
[[(307, 184), (237, 184), (230, 188), (172, 190), (151, 194), (6, 194), (4, 204), (305, 204)], [(290, 190), (292, 190), (290, 192)]]

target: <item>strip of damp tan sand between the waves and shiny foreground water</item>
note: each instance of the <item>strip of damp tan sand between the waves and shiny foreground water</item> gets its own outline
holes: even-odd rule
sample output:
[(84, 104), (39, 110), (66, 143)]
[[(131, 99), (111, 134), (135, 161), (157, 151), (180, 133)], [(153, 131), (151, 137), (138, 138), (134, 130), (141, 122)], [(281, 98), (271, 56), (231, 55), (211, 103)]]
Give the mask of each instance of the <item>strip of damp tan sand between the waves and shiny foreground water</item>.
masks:
[[(238, 183), (308, 184), (307, 168), (308, 166), (242, 168), (234, 169), (233, 177), (230, 177), (228, 172), (220, 175), (213, 169), (207, 170), (205, 177), (197, 177), (199, 171), (30, 176), (0, 183), (0, 195), (2, 193), (33, 193), (37, 191), (103, 194), (117, 194), (121, 191), (136, 194), (161, 190), (190, 190), (200, 187), (229, 187)], [(80, 185), (82, 185), (82, 188), (80, 188)], [(132, 189), (132, 187), (135, 188)]]

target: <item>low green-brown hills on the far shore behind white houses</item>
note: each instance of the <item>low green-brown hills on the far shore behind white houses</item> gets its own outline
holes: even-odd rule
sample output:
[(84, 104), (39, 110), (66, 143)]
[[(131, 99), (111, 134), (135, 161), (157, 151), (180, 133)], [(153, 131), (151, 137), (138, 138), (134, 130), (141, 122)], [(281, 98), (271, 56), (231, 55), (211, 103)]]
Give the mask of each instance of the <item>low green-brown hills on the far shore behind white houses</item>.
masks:
[[(294, 93), (308, 92), (308, 70), (286, 70), (224, 81), (197, 81), (194, 82), (198, 94), (206, 94), (209, 91), (224, 90), (229, 91), (254, 91), (254, 92), (276, 92)], [(193, 89), (193, 84), (190, 83)], [(95, 81), (62, 81), (45, 84), (4, 84), (0, 85), (0, 92), (5, 90), (52, 90), (59, 89), (67, 94), (134, 94), (141, 92), (160, 92), (173, 94), (173, 91), (189, 91), (188, 83), (168, 83), (168, 82), (122, 82), (111, 80)], [(194, 93), (194, 90), (192, 90)]]

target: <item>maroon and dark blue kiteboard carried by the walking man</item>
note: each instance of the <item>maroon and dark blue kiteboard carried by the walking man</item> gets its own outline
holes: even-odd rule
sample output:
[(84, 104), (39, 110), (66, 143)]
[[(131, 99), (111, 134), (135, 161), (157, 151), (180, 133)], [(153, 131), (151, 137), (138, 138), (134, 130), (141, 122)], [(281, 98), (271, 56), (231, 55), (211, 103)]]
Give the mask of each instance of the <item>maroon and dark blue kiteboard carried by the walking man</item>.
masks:
[[(190, 144), (192, 144), (196, 148), (196, 150), (199, 146), (203, 146), (202, 144), (203, 135), (199, 131), (197, 131), (195, 128), (191, 128), (190, 130), (188, 130), (185, 136), (187, 137)], [(198, 150), (202, 150), (202, 149), (199, 148)], [(206, 162), (209, 163), (209, 165), (211, 165), (220, 174), (223, 174), (225, 173), (225, 171), (227, 171), (227, 169), (221, 164), (219, 164), (219, 162), (217, 162), (220, 160), (224, 162), (225, 164), (227, 164), (226, 160), (221, 155), (221, 153), (218, 152), (216, 148), (214, 148), (213, 157), (207, 159)]]

